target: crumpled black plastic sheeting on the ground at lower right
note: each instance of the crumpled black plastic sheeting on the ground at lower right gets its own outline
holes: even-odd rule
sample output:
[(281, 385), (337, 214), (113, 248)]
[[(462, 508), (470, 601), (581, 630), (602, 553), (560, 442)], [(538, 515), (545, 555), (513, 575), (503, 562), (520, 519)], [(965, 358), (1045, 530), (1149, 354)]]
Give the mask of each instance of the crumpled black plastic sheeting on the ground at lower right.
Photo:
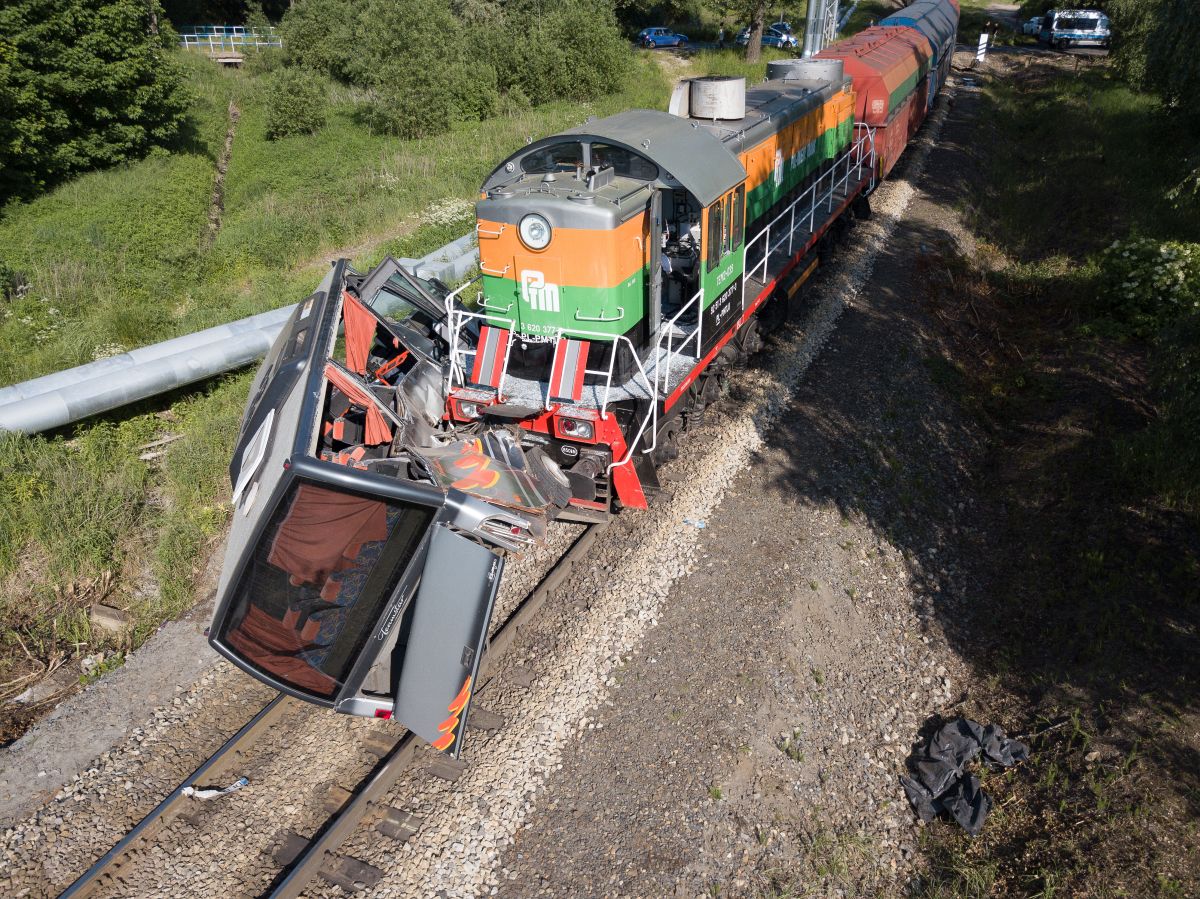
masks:
[(901, 777), (900, 783), (922, 821), (928, 823), (946, 811), (972, 837), (979, 834), (991, 811), (991, 797), (966, 767), (980, 753), (992, 769), (1030, 757), (1030, 748), (1009, 739), (1003, 729), (994, 724), (984, 727), (968, 718), (943, 724), (913, 750), (908, 756), (912, 777)]

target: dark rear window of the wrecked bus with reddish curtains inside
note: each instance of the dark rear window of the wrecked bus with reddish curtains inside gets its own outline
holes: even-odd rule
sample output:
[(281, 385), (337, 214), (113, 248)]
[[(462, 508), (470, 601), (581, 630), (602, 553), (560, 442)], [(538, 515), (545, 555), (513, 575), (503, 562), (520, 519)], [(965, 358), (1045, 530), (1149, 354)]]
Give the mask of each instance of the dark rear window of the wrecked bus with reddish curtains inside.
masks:
[(433, 513), (294, 483), (230, 592), (218, 639), (268, 677), (332, 699)]

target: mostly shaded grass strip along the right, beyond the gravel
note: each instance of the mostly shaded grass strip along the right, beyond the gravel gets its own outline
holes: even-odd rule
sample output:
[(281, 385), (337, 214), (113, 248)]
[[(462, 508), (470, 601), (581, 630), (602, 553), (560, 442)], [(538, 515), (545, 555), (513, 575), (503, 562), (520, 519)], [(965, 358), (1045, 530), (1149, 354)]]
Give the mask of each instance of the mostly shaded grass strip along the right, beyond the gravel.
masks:
[(1192, 137), (1105, 66), (1054, 62), (988, 78), (974, 127), (983, 174), (959, 194), (984, 264), (930, 270), (954, 349), (925, 365), (992, 443), (992, 586), (966, 625), (991, 648), (968, 653), (964, 713), (1032, 733), (1032, 761), (986, 777), (980, 837), (924, 832), (919, 894), (1195, 894), (1194, 508), (1121, 465), (1156, 418), (1158, 347), (1096, 302), (1115, 239), (1200, 239), (1200, 210), (1170, 196)]

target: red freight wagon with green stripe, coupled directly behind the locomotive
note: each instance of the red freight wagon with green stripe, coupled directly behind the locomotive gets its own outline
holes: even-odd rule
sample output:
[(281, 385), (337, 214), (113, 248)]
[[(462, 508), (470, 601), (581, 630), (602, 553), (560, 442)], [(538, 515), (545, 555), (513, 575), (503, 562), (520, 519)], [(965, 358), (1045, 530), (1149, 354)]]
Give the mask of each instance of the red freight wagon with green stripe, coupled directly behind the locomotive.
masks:
[(840, 59), (854, 80), (854, 120), (875, 126), (880, 174), (892, 170), (928, 108), (934, 49), (911, 28), (869, 28), (817, 54)]

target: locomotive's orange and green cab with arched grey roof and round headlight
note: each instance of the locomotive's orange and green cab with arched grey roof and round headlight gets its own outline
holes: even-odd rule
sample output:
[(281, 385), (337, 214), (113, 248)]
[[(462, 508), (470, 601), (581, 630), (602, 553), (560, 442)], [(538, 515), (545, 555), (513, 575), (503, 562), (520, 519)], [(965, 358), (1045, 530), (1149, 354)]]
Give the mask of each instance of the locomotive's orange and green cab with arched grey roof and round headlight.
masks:
[[(476, 208), (480, 311), (511, 328), (514, 374), (545, 379), (552, 344), (577, 336), (589, 370), (613, 362), (631, 377), (616, 343), (628, 340), (644, 364), (664, 323), (700, 290), (706, 263), (740, 246), (744, 179), (719, 140), (652, 110), (590, 121), (505, 160)], [(714, 228), (712, 215), (726, 217)]]

